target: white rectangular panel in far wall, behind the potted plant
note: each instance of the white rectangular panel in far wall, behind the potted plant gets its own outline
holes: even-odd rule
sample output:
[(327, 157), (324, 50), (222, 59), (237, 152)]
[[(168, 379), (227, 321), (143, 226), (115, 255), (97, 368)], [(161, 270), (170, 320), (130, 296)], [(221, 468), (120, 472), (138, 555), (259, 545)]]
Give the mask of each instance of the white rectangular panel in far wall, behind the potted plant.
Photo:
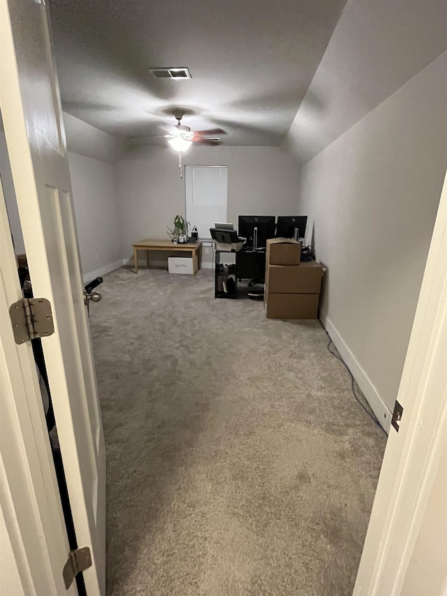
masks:
[(227, 218), (228, 166), (185, 166), (186, 219), (199, 238)]

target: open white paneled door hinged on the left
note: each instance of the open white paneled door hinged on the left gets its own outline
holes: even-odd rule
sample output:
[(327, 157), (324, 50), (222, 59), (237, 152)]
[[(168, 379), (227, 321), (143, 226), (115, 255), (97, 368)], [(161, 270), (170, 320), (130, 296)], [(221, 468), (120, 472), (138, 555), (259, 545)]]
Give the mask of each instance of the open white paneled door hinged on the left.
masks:
[(42, 340), (89, 596), (104, 594), (105, 445), (84, 305), (59, 87), (44, 3), (0, 0), (0, 108), (34, 296), (52, 304)]

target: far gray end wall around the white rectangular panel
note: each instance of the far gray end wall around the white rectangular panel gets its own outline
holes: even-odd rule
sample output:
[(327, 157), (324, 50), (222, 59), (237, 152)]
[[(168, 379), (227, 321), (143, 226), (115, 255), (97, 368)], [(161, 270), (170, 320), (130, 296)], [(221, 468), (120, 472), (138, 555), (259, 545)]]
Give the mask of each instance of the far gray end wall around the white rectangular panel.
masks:
[[(235, 225), (238, 215), (296, 215), (300, 168), (279, 147), (192, 147), (184, 165), (228, 166), (228, 221)], [(166, 226), (184, 214), (184, 178), (173, 150), (147, 147), (119, 161), (117, 181), (123, 254), (129, 258), (135, 240), (168, 238)]]

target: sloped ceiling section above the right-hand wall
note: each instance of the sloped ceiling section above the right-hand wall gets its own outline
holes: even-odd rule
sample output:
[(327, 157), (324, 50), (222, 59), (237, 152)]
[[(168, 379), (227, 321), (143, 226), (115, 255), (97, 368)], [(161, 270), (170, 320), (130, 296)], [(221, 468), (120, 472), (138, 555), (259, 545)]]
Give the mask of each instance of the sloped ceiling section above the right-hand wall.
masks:
[(445, 0), (349, 0), (284, 148), (309, 161), (446, 48)]

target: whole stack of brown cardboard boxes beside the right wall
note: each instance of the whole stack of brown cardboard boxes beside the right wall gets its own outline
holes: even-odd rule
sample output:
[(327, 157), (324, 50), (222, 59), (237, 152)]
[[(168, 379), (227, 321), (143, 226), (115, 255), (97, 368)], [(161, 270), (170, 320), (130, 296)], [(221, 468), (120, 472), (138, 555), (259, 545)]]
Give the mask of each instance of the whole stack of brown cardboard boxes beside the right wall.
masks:
[(323, 267), (300, 263), (301, 245), (295, 240), (267, 242), (264, 302), (269, 319), (316, 319)]

